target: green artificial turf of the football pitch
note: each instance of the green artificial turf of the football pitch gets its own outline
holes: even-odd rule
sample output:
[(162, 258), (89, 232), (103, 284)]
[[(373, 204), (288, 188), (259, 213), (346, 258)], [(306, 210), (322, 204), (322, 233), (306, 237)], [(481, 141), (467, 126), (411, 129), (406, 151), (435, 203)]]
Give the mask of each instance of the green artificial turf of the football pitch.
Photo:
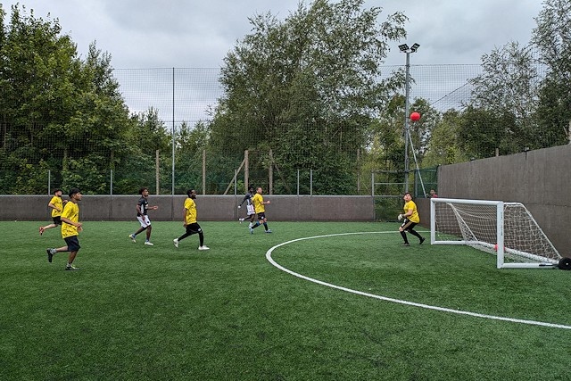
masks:
[[(414, 237), (402, 247), (395, 223), (272, 221), (253, 235), (201, 222), (209, 251), (198, 236), (175, 248), (179, 222), (153, 221), (154, 246), (128, 238), (136, 221), (86, 222), (80, 270), (65, 271), (66, 253), (46, 259), (58, 229), (39, 225), (0, 222), (2, 380), (569, 377), (571, 329), (451, 311), (569, 327), (570, 271), (496, 269), (490, 254)], [(273, 266), (272, 247), (307, 278)]]

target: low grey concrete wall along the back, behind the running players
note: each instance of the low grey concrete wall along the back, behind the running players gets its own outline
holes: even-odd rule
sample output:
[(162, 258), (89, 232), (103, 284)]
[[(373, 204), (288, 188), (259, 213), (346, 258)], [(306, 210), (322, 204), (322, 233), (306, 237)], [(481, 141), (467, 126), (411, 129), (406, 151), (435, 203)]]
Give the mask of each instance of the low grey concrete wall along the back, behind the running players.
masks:
[[(244, 217), (245, 207), (236, 206), (244, 196), (198, 195), (198, 219), (202, 221), (232, 220)], [(64, 196), (64, 199), (67, 197)], [(81, 220), (130, 220), (137, 217), (138, 195), (84, 195), (79, 203)], [(149, 195), (149, 204), (159, 207), (149, 211), (151, 220), (182, 220), (186, 195)], [(2, 220), (46, 220), (50, 211), (47, 195), (0, 195)], [(264, 195), (269, 221), (373, 221), (375, 208), (371, 196), (330, 195)], [(244, 204), (245, 205), (245, 204)]]

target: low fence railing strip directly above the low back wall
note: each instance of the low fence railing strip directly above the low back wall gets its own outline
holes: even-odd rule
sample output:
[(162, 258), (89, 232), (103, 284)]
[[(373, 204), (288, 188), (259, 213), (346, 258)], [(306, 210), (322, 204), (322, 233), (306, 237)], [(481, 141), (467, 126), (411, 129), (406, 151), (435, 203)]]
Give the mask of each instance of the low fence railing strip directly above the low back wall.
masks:
[[(0, 170), (0, 195), (51, 195), (54, 189), (62, 189), (64, 194), (70, 187), (79, 187), (87, 195), (136, 195), (145, 186), (152, 195), (186, 195), (188, 189), (194, 189), (199, 195), (244, 195), (245, 181), (249, 186), (261, 186), (269, 195), (332, 195), (330, 182), (332, 174), (323, 170), (294, 170), (272, 176), (270, 170), (250, 171), (247, 180), (244, 172), (221, 173), (216, 170), (181, 170), (175, 173), (173, 185), (170, 171), (145, 170), (141, 172), (103, 170), (73, 172), (72, 176), (62, 179), (62, 172), (42, 170), (34, 178), (21, 178), (18, 173)], [(397, 173), (397, 172), (395, 172)], [(395, 174), (393, 173), (393, 174)], [(422, 176), (434, 173), (434, 169), (414, 170), (411, 173), (412, 188), (415, 197), (426, 197), (430, 188), (437, 188), (435, 176), (424, 182)], [(404, 172), (398, 172), (402, 177)], [(404, 183), (393, 180), (379, 180), (378, 171), (356, 174), (352, 184), (344, 184), (343, 195), (370, 195), (387, 199), (401, 200)], [(430, 176), (430, 175), (429, 175)], [(20, 193), (9, 192), (12, 184), (4, 179), (20, 182)], [(412, 180), (411, 180), (412, 181)], [(426, 187), (428, 186), (428, 187)], [(174, 188), (174, 193), (172, 189)]]

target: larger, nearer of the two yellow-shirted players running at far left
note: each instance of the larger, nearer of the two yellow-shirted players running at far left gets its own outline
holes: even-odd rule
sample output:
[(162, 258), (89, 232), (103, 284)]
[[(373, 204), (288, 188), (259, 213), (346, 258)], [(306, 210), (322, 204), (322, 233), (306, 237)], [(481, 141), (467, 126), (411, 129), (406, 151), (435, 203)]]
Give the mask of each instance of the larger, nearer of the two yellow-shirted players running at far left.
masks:
[(65, 204), (62, 211), (62, 238), (65, 241), (65, 246), (58, 249), (47, 249), (47, 261), (52, 262), (55, 253), (70, 252), (68, 256), (68, 264), (65, 266), (66, 270), (77, 270), (78, 268), (73, 266), (73, 260), (75, 260), (76, 255), (79, 252), (81, 246), (79, 246), (78, 235), (83, 229), (81, 222), (79, 222), (79, 206), (78, 203), (81, 201), (81, 192), (78, 188), (72, 188), (70, 190), (70, 202)]

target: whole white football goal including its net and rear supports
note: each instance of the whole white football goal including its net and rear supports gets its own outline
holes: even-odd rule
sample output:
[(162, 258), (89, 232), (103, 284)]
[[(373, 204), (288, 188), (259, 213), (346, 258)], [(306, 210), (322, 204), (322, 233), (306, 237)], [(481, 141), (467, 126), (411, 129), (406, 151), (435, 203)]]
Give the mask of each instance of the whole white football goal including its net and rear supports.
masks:
[(430, 199), (431, 244), (467, 244), (497, 256), (497, 267), (553, 268), (561, 260), (522, 203)]

